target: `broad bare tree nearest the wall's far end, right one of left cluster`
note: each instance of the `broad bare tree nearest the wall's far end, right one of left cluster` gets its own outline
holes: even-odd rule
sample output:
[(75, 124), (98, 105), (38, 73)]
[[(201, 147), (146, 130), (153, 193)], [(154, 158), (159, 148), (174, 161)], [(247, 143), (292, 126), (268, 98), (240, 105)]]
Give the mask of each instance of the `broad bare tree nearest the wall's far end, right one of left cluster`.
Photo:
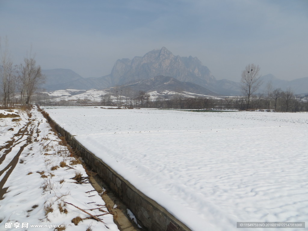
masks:
[(24, 59), (24, 64), (18, 67), (18, 90), (20, 92), (21, 105), (28, 106), (31, 97), (38, 86), (44, 83), (45, 76), (41, 73), (41, 67), (36, 66), (34, 57)]

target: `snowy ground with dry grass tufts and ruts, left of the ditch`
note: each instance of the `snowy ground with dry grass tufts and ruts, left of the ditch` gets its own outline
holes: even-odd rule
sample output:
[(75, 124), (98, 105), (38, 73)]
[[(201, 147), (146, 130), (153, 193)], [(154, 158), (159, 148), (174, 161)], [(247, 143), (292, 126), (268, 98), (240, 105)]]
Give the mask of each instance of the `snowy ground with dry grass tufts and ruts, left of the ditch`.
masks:
[[(55, 230), (58, 225), (66, 231), (118, 230), (111, 214), (98, 217), (103, 223), (84, 219), (89, 215), (73, 206), (93, 216), (108, 212), (86, 177), (36, 108), (0, 110), (0, 230)], [(84, 220), (75, 226), (71, 220), (77, 216)]]

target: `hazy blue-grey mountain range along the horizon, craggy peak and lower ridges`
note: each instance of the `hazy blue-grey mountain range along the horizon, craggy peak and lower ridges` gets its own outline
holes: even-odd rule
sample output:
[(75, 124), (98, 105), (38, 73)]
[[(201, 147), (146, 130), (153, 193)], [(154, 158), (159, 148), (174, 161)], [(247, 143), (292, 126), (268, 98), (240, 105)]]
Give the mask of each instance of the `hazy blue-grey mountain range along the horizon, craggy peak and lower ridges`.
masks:
[[(202, 65), (197, 57), (175, 56), (165, 47), (149, 51), (143, 57), (118, 59), (111, 74), (99, 78), (83, 78), (68, 69), (43, 70), (43, 74), (47, 76), (47, 82), (43, 87), (48, 91), (105, 89), (155, 76), (169, 76), (185, 83), (186, 87), (188, 83), (197, 84), (218, 95), (242, 94), (241, 83), (227, 79), (216, 80), (209, 68)], [(265, 90), (268, 81), (272, 82), (273, 88), (281, 87), (282, 90), (286, 90), (287, 87), (291, 87), (295, 94), (308, 93), (308, 77), (285, 81), (269, 74), (261, 79), (263, 85), (258, 90), (260, 93)]]

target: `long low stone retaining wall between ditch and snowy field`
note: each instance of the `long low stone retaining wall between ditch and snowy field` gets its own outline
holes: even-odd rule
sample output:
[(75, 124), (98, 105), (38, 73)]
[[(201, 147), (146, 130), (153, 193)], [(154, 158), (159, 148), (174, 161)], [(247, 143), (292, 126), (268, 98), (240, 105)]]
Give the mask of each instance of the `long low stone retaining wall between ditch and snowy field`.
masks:
[(48, 120), (55, 125), (55, 128), (62, 136), (65, 136), (67, 142), (74, 149), (78, 150), (85, 163), (93, 169), (92, 171), (96, 172), (115, 195), (130, 208), (143, 228), (149, 231), (191, 231), (166, 209), (141, 193), (131, 183), (116, 173), (103, 160), (89, 152), (82, 144), (75, 140), (74, 136), (61, 128), (50, 117), (48, 117)]

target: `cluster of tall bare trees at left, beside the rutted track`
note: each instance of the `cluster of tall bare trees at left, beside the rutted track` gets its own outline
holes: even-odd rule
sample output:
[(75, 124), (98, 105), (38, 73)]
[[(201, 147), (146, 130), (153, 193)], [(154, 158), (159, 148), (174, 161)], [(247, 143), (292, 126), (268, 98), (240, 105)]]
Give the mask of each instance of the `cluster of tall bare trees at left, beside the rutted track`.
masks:
[[(24, 63), (14, 65), (11, 59), (7, 38), (2, 45), (0, 37), (0, 94), (4, 107), (29, 106), (31, 97), (38, 86), (44, 82), (41, 67), (36, 65), (34, 55), (24, 58)], [(18, 99), (18, 102), (17, 102)]]

